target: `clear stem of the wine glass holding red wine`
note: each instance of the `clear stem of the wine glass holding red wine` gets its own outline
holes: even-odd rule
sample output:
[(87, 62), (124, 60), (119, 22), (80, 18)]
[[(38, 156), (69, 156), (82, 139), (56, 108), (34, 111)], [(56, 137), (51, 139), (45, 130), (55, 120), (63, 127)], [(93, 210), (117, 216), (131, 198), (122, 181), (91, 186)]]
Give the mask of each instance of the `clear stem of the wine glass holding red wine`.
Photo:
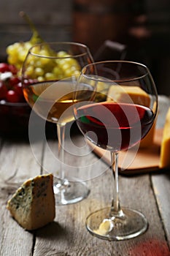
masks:
[(118, 183), (118, 158), (119, 153), (111, 152), (112, 159), (112, 177), (113, 177), (113, 197), (112, 205), (110, 210), (110, 217), (112, 216), (122, 216), (123, 212), (120, 209), (120, 200), (119, 200), (119, 183)]

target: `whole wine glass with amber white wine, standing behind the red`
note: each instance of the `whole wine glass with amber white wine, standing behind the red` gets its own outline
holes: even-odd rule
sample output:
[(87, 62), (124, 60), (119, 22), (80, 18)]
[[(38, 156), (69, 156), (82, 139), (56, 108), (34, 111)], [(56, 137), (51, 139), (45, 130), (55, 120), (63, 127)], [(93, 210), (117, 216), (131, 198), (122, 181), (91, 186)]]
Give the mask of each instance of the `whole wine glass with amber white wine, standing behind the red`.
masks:
[(55, 172), (54, 192), (58, 205), (77, 203), (89, 193), (84, 182), (66, 179), (63, 163), (66, 124), (74, 121), (72, 104), (76, 80), (82, 67), (92, 62), (85, 45), (44, 42), (34, 45), (23, 63), (22, 83), (26, 101), (45, 121), (57, 125), (61, 166)]

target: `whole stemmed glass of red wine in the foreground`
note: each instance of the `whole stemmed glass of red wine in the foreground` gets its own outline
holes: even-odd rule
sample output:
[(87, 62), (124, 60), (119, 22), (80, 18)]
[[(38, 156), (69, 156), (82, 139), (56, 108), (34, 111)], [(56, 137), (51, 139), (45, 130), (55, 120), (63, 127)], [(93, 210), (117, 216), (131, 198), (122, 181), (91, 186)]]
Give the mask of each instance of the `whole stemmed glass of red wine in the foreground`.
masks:
[[(90, 100), (79, 102), (81, 91)], [(74, 116), (82, 134), (110, 151), (113, 192), (111, 206), (86, 219), (88, 231), (98, 238), (124, 240), (147, 230), (147, 219), (120, 206), (118, 157), (137, 145), (150, 131), (158, 110), (158, 94), (149, 69), (132, 61), (101, 61), (83, 67), (74, 94)]]

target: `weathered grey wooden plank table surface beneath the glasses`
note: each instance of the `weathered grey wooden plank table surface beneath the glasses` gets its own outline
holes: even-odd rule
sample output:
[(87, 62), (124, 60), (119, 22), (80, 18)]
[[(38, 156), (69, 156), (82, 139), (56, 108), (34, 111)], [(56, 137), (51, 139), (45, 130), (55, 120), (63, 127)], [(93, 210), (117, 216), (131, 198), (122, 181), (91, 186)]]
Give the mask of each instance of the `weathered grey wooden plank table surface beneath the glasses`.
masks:
[[(158, 127), (163, 127), (170, 99), (159, 97)], [(74, 135), (76, 143), (82, 141)], [(57, 147), (55, 140), (49, 145)], [(69, 145), (69, 144), (68, 144)], [(52, 167), (42, 141), (35, 143), (37, 158)], [(104, 241), (88, 233), (85, 219), (90, 212), (109, 206), (112, 198), (112, 173), (104, 162), (90, 153), (90, 161), (97, 162), (100, 176), (89, 179), (90, 195), (80, 203), (56, 206), (55, 221), (28, 232), (23, 230), (7, 211), (7, 200), (19, 184), (17, 181), (42, 173), (30, 144), (25, 140), (0, 138), (0, 255), (4, 256), (168, 256), (170, 255), (170, 170), (120, 176), (120, 203), (135, 208), (147, 217), (149, 228), (137, 238), (125, 241)], [(69, 159), (69, 157), (68, 157)], [(86, 158), (85, 158), (86, 159)], [(77, 158), (70, 161), (76, 162)], [(82, 158), (83, 161), (83, 158)], [(84, 160), (85, 161), (85, 160)], [(50, 166), (51, 165), (51, 166)], [(51, 170), (52, 170), (51, 169)], [(102, 170), (106, 170), (102, 173)], [(93, 171), (93, 170), (92, 170)]]

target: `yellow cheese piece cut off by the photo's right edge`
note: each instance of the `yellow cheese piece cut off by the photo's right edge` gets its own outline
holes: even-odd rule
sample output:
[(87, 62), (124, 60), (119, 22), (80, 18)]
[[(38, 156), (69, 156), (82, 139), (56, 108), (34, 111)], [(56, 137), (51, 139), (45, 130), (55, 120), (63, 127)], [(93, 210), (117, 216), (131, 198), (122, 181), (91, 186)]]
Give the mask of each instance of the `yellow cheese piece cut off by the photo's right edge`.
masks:
[(161, 142), (161, 157), (159, 167), (170, 167), (170, 108), (166, 114), (166, 122), (163, 128), (163, 139)]

